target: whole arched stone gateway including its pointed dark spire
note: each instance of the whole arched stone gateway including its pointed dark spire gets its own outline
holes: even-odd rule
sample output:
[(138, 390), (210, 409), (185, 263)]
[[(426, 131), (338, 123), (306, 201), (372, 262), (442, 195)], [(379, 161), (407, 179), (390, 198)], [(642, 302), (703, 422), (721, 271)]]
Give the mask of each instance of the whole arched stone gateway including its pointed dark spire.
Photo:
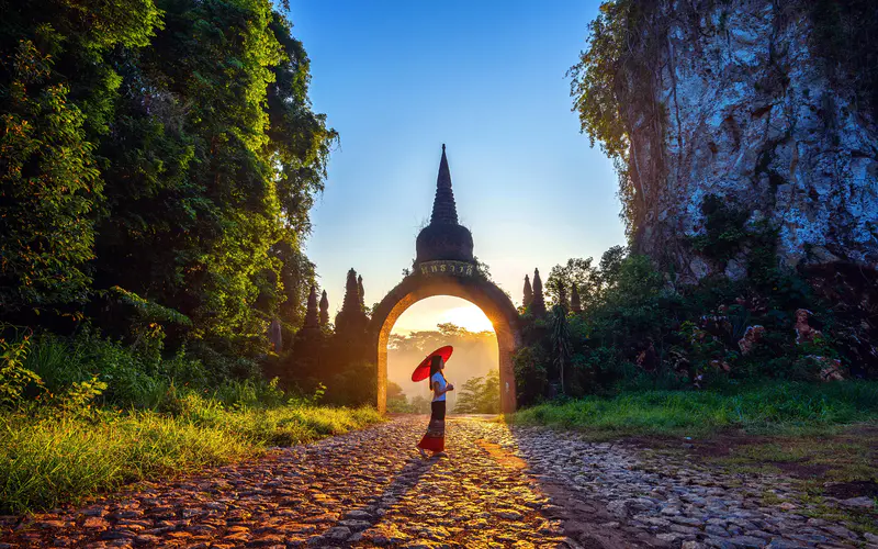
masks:
[(379, 303), (369, 324), (369, 345), (378, 365), (378, 410), (386, 411), (387, 340), (396, 320), (423, 299), (452, 295), (476, 305), (494, 325), (499, 351), (500, 412), (515, 412), (513, 354), (521, 343), (518, 311), (509, 296), (479, 270), (472, 234), (458, 223), (444, 145), (430, 224), (418, 235), (416, 249), (412, 272)]

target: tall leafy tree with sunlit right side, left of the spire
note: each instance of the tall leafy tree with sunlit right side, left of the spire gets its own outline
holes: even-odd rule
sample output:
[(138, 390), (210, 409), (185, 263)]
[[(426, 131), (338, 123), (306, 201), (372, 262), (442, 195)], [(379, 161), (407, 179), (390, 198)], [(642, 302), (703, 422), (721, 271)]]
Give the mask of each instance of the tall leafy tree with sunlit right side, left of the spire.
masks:
[(257, 356), (267, 323), (301, 326), (301, 251), (335, 132), (307, 100), (308, 59), (268, 0), (160, 0), (165, 29), (123, 59), (98, 282), (172, 304), (187, 337)]

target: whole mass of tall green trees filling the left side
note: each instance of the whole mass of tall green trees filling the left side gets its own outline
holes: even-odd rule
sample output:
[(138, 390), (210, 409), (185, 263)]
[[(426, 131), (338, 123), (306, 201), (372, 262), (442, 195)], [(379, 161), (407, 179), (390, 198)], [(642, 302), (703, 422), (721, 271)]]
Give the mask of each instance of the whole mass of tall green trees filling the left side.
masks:
[[(301, 325), (302, 253), (336, 139), (269, 0), (0, 0), (2, 317), (175, 310), (175, 346), (232, 360)], [(108, 290), (120, 289), (111, 294)], [(237, 357), (237, 358), (236, 358)]]

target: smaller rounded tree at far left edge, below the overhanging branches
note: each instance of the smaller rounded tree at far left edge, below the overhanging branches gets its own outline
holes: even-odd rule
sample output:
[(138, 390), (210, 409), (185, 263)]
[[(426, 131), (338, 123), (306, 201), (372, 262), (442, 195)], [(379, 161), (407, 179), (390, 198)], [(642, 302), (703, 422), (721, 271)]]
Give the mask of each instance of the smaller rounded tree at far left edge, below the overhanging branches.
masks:
[(83, 302), (91, 282), (92, 210), (103, 182), (82, 111), (50, 83), (52, 57), (23, 40), (11, 59), (0, 127), (0, 302)]

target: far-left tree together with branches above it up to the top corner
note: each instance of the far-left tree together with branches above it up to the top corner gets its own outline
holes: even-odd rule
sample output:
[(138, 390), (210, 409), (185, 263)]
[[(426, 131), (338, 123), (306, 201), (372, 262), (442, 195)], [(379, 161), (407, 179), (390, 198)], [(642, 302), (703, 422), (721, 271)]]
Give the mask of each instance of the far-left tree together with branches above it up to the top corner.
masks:
[(112, 56), (160, 26), (151, 0), (0, 0), (3, 316), (83, 302), (104, 181), (95, 155), (120, 77)]

